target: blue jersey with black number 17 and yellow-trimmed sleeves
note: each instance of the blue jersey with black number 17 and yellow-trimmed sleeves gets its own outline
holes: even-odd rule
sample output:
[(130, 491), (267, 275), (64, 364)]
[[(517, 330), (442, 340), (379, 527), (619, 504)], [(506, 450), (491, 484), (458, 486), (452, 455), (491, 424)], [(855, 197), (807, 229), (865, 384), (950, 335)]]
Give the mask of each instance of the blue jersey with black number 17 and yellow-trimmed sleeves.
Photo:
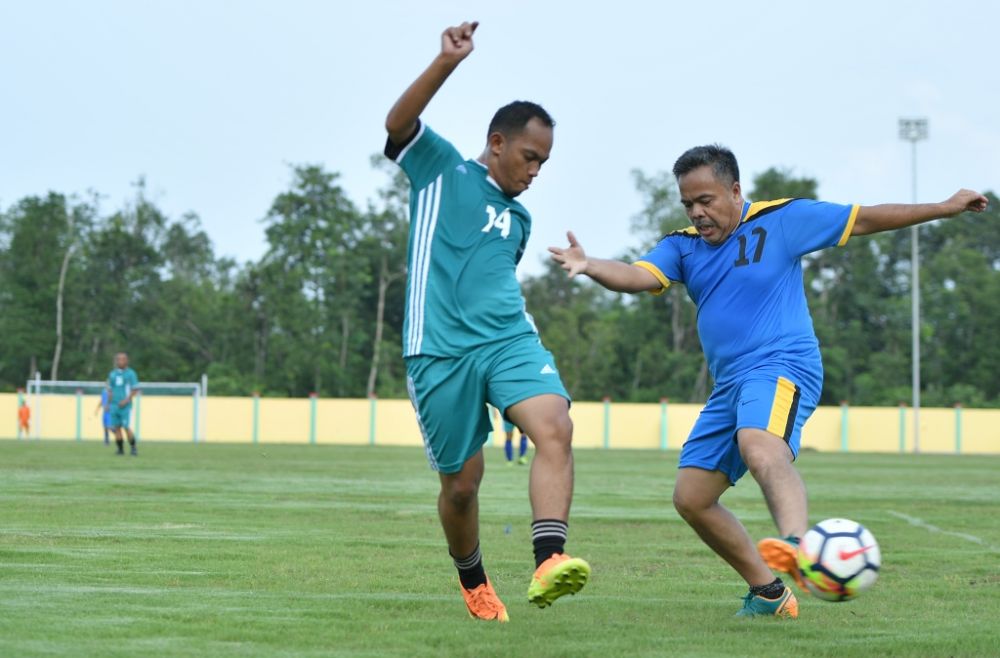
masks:
[(687, 288), (717, 383), (775, 362), (821, 377), (801, 258), (845, 244), (857, 213), (856, 205), (808, 199), (745, 202), (739, 226), (722, 244), (709, 244), (693, 227), (674, 231), (636, 265), (659, 280), (656, 294), (671, 283)]

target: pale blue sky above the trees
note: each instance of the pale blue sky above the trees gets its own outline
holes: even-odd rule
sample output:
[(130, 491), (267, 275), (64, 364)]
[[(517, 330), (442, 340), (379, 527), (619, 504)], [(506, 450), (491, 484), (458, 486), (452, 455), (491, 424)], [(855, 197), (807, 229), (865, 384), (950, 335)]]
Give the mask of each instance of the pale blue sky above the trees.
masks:
[(427, 123), (474, 157), (511, 100), (557, 122), (520, 198), (522, 276), (567, 230), (596, 256), (650, 246), (629, 232), (631, 171), (669, 171), (699, 144), (732, 148), (747, 187), (778, 166), (830, 201), (909, 201), (897, 121), (920, 116), (920, 201), (1000, 191), (988, 0), (0, 0), (0, 209), (95, 190), (110, 213), (144, 177), (169, 216), (201, 218), (217, 254), (255, 260), (292, 165), (339, 172), (361, 207), (374, 198), (387, 110), (467, 19), (475, 51)]

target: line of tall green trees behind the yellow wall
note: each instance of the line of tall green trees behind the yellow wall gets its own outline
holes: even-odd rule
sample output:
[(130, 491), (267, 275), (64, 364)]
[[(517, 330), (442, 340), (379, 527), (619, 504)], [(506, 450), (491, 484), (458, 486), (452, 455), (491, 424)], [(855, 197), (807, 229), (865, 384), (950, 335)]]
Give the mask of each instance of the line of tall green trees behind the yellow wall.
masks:
[[(209, 375), (215, 395), (406, 395), (400, 336), (407, 185), (359, 205), (338, 175), (292, 167), (264, 213), (255, 262), (216, 255), (197, 215), (166, 216), (140, 180), (110, 214), (96, 195), (50, 192), (0, 208), (0, 389), (102, 379), (127, 349), (145, 380)], [(666, 173), (633, 172), (641, 255), (688, 220)], [(772, 168), (754, 199), (817, 198), (818, 182)], [(921, 228), (923, 399), (1000, 406), (1000, 204)], [(804, 261), (826, 366), (823, 404), (910, 396), (910, 232), (855, 238)], [(601, 254), (602, 256), (605, 254)], [(622, 296), (551, 264), (523, 281), (528, 309), (577, 399), (703, 401), (711, 379), (680, 286)]]

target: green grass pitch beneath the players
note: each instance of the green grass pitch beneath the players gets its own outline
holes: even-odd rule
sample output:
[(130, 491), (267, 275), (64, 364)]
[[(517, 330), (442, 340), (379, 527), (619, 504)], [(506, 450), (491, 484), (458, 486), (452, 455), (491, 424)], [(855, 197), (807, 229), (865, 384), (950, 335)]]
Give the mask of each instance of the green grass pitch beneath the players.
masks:
[[(0, 655), (1000, 652), (1000, 458), (803, 455), (812, 517), (869, 526), (884, 565), (856, 601), (801, 597), (796, 622), (733, 618), (743, 585), (670, 506), (676, 459), (577, 453), (569, 549), (594, 577), (537, 610), (527, 469), (490, 449), (500, 626), (466, 617), (418, 449), (0, 442)], [(724, 500), (771, 532), (752, 480)]]

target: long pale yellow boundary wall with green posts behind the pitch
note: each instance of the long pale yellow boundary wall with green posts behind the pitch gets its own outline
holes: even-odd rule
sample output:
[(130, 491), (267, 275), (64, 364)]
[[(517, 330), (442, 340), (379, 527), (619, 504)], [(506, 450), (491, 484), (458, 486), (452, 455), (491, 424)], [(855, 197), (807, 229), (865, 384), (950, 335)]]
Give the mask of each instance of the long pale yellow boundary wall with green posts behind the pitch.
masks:
[[(43, 395), (32, 407), (28, 437), (99, 440), (96, 396)], [(19, 396), (0, 394), (0, 439), (14, 439)], [(35, 408), (38, 407), (38, 408)], [(576, 402), (570, 411), (580, 448), (677, 449), (700, 411), (694, 404)], [(503, 440), (494, 418), (493, 441)], [(823, 451), (911, 452), (909, 409), (820, 407), (803, 430), (802, 445)], [(140, 396), (132, 426), (140, 440), (208, 443), (317, 443), (421, 445), (408, 400), (283, 399)], [(925, 408), (920, 413), (924, 452), (1000, 454), (1000, 409)]]

